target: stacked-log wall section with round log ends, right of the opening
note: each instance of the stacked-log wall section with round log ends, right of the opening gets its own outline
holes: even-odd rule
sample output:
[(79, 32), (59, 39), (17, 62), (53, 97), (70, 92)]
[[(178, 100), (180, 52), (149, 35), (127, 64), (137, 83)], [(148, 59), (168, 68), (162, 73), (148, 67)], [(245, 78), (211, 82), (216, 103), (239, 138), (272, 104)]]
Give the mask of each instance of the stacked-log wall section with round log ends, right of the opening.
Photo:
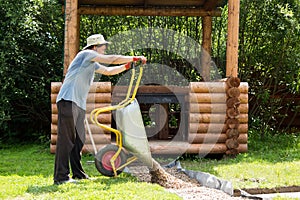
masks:
[(248, 150), (248, 84), (233, 87), (230, 83), (190, 83), (189, 151), (237, 154)]

